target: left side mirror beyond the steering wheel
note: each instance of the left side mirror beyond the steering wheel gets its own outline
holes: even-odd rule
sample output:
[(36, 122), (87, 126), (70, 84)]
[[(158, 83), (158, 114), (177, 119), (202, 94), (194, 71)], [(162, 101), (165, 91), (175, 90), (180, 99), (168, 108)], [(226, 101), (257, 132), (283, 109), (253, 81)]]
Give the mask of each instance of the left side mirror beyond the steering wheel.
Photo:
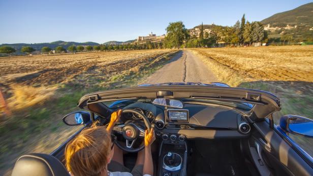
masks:
[(63, 117), (63, 122), (70, 126), (87, 124), (91, 121), (90, 113), (80, 111), (73, 112)]

